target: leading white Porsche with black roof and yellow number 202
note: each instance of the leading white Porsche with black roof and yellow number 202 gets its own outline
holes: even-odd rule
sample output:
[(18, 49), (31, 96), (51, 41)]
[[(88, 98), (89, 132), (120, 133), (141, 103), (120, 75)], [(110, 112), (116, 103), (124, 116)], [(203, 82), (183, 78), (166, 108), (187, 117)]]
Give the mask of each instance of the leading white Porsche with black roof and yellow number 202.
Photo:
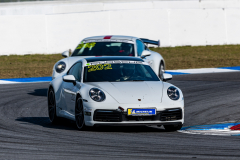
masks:
[(48, 113), (76, 121), (79, 130), (103, 125), (163, 125), (179, 130), (184, 123), (182, 91), (161, 81), (147, 62), (136, 57), (92, 57), (77, 61), (50, 82)]

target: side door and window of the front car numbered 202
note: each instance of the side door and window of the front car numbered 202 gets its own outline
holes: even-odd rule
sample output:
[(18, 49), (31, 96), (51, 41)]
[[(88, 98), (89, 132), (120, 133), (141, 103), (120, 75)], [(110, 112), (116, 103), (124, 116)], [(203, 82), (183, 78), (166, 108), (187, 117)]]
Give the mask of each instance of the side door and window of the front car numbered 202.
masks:
[(75, 77), (76, 84), (73, 84), (72, 82), (63, 82), (65, 110), (73, 115), (75, 114), (76, 94), (81, 88), (81, 74), (82, 62), (78, 62), (67, 73), (67, 75), (73, 75)]

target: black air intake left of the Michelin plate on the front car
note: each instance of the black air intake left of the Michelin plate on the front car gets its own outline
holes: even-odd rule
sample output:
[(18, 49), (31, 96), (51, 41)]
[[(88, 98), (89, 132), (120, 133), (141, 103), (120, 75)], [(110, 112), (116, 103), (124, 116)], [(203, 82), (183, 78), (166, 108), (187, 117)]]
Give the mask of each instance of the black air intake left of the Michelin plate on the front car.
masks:
[(96, 110), (94, 112), (93, 120), (101, 122), (121, 122), (122, 114), (118, 111)]

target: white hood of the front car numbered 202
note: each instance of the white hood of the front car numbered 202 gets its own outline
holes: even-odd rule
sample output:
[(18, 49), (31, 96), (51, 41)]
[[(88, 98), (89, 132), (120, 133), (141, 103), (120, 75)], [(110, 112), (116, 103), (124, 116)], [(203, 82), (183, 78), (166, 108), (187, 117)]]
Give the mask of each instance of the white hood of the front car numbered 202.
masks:
[(88, 84), (107, 92), (118, 103), (142, 104), (161, 103), (162, 101), (163, 83), (161, 81), (89, 82)]

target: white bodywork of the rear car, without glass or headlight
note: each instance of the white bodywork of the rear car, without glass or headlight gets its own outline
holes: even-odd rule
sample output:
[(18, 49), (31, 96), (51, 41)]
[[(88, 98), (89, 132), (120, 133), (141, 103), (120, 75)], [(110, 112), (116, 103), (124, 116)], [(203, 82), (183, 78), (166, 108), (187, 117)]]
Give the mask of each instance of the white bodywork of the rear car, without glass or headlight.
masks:
[[(92, 40), (92, 41), (94, 41), (94, 40), (95, 41), (100, 41), (101, 40), (101, 41), (105, 41), (105, 42), (108, 42), (108, 41), (111, 41), (111, 40), (127, 40), (127, 41), (134, 44), (135, 57), (141, 58), (137, 54), (137, 45), (136, 45), (136, 40), (139, 39), (139, 38), (131, 37), (131, 36), (115, 36), (115, 35), (111, 36), (112, 37), (111, 39), (104, 39), (104, 37), (106, 37), (106, 36), (88, 37), (88, 38), (83, 39), (81, 42), (86, 41), (86, 40)], [(143, 60), (146, 61), (152, 67), (154, 72), (158, 75), (159, 74), (160, 63), (163, 63), (163, 65), (165, 66), (165, 61), (164, 61), (163, 57), (161, 56), (161, 54), (159, 54), (157, 52), (154, 52), (154, 51), (151, 51), (151, 50), (148, 50), (148, 51), (151, 52), (151, 55), (143, 58)], [(92, 56), (74, 56), (74, 57), (70, 56), (70, 57), (61, 59), (55, 65), (57, 65), (61, 61), (65, 62), (66, 63), (66, 69), (62, 73), (57, 73), (55, 71), (55, 65), (54, 65), (53, 66), (52, 79), (54, 79), (58, 76), (64, 75), (68, 71), (70, 66), (72, 66), (74, 63), (76, 63), (80, 59), (84, 59), (84, 58), (88, 58), (88, 57), (92, 57)]]

